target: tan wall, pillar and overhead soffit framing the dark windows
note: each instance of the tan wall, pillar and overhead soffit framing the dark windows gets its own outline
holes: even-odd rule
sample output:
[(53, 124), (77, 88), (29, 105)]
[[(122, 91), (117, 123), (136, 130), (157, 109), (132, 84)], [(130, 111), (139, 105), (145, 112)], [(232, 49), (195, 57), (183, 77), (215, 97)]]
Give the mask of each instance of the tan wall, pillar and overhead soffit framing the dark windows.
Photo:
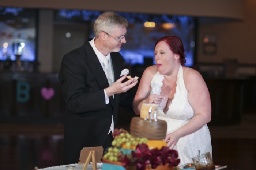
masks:
[[(240, 64), (256, 64), (256, 2), (254, 0), (131, 0), (131, 1), (29, 1), (2, 0), (1, 6), (39, 8), (38, 60), (40, 72), (57, 72), (54, 66), (60, 62), (54, 59), (53, 12), (52, 9), (86, 9), (116, 12), (139, 12), (150, 14), (187, 15), (198, 18), (197, 54), (195, 63), (224, 63), (226, 59), (236, 59)], [(215, 49), (205, 53), (204, 37), (213, 36)], [(46, 49), (47, 50), (46, 50)], [(56, 63), (57, 62), (57, 63)], [(47, 63), (47, 64), (46, 64)], [(253, 72), (254, 69), (245, 69)], [(253, 73), (255, 74), (255, 72)]]

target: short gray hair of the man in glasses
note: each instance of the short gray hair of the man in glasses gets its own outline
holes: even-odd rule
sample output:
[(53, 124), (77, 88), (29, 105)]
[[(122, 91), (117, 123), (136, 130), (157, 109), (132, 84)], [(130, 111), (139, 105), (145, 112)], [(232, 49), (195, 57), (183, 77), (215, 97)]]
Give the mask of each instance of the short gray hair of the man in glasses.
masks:
[(113, 27), (128, 27), (128, 21), (114, 12), (104, 12), (95, 20), (94, 34), (98, 38), (101, 31), (111, 33)]

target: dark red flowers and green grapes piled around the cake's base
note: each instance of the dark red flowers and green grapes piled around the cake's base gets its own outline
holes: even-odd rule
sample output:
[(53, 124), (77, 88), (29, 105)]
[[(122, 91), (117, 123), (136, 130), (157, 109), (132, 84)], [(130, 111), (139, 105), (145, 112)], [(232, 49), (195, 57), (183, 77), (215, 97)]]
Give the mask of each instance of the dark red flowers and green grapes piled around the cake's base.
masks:
[[(120, 129), (118, 132), (116, 130), (116, 133), (113, 133), (113, 136), (115, 136), (114, 141), (117, 140), (116, 136), (123, 136), (122, 139), (124, 142), (131, 141), (131, 139), (124, 140), (126, 135), (120, 135), (122, 133), (125, 133), (126, 135), (129, 134), (124, 129)], [(128, 137), (133, 138), (130, 134)], [(180, 159), (178, 159), (178, 152), (176, 150), (169, 149), (166, 146), (163, 146), (161, 149), (158, 149), (157, 147), (150, 149), (147, 145), (147, 140), (142, 138), (136, 138), (134, 140), (139, 141), (139, 143), (136, 144), (135, 149), (129, 149), (131, 154), (127, 154), (127, 152), (124, 154), (123, 148), (120, 147), (123, 144), (113, 142), (114, 144), (118, 143), (118, 147), (110, 147), (108, 149), (108, 153), (103, 156), (103, 159), (108, 159), (112, 162), (119, 162), (119, 165), (121, 164), (122, 166), (127, 167), (127, 169), (136, 167), (136, 170), (146, 170), (148, 166), (152, 169), (156, 169), (160, 165), (175, 167), (180, 163)], [(132, 141), (134, 140), (132, 139)], [(129, 147), (131, 148), (130, 145)]]

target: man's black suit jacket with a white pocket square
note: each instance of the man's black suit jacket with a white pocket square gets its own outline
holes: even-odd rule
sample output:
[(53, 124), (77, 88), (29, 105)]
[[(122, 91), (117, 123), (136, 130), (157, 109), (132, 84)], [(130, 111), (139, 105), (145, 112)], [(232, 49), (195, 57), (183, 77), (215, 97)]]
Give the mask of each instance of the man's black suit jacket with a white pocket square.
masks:
[[(111, 53), (115, 81), (120, 78), (123, 58)], [(78, 163), (83, 147), (102, 146), (112, 122), (117, 126), (118, 106), (132, 111), (134, 95), (123, 93), (111, 96), (105, 103), (103, 89), (109, 86), (105, 72), (86, 42), (64, 55), (59, 80), (66, 102), (64, 130), (64, 164)]]

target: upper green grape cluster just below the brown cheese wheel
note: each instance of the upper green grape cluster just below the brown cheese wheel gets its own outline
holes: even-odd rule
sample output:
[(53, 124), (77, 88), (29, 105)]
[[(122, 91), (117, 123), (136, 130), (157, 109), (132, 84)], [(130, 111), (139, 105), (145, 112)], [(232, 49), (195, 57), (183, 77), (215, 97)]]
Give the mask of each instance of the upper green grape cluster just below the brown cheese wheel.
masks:
[(133, 137), (128, 131), (124, 129), (115, 129), (112, 133), (114, 136), (114, 140), (112, 141), (112, 146), (121, 147), (122, 145), (126, 145), (127, 148), (135, 148), (138, 144), (147, 143), (147, 138), (139, 138)]

